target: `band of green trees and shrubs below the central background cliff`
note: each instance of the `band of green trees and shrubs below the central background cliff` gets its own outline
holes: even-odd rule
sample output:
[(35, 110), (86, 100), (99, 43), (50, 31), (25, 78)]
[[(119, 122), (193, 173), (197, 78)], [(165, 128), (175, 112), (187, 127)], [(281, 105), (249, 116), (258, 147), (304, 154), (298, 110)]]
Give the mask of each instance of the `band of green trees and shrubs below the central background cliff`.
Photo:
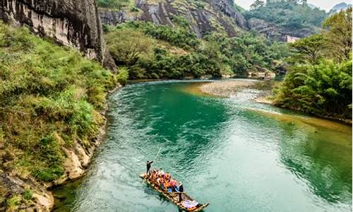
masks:
[(173, 21), (173, 28), (142, 21), (105, 28), (109, 51), (131, 79), (246, 75), (274, 69), (274, 61), (288, 54), (287, 45), (252, 33), (213, 33), (201, 40), (184, 18)]

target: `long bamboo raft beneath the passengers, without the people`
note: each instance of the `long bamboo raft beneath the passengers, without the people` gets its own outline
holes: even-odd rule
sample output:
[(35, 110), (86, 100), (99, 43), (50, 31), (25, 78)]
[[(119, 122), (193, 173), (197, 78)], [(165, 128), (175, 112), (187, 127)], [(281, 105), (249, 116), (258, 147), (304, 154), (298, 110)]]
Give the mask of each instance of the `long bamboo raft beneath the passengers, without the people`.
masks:
[(185, 201), (185, 200), (193, 201), (194, 199), (192, 199), (191, 196), (189, 196), (188, 194), (185, 194), (183, 192), (181, 194), (181, 197), (182, 197), (183, 201), (179, 202), (179, 194), (177, 192), (169, 193), (166, 190), (160, 188), (160, 186), (155, 184), (155, 182), (152, 182), (152, 180), (148, 176), (146, 176), (145, 173), (141, 174), (140, 177), (145, 182), (150, 184), (151, 187), (153, 187), (158, 192), (163, 194), (163, 196), (165, 196), (167, 199), (169, 199), (169, 201), (172, 201), (174, 204), (176, 204), (181, 210), (190, 211), (190, 212), (202, 211), (203, 208), (205, 208), (205, 207), (207, 207), (209, 205), (209, 204), (201, 204), (201, 206), (198, 206), (198, 207), (186, 208), (186, 207), (183, 206), (182, 202)]

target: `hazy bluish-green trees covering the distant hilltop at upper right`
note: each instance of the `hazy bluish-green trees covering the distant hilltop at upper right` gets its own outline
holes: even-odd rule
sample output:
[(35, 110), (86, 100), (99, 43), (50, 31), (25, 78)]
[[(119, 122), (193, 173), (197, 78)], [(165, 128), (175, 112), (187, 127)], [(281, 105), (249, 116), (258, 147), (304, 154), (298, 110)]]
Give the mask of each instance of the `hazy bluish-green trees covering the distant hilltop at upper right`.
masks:
[(294, 31), (319, 28), (327, 18), (325, 11), (311, 8), (305, 0), (256, 0), (251, 5), (251, 10), (246, 11), (244, 16), (247, 19), (262, 19)]

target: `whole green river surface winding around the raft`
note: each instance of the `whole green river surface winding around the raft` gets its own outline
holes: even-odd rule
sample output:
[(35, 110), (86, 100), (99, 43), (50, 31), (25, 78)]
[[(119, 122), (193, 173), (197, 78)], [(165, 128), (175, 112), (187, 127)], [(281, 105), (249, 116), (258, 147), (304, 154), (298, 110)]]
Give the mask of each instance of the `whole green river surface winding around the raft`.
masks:
[(146, 160), (205, 211), (352, 211), (352, 128), (191, 82), (138, 83), (109, 98), (107, 136), (88, 174), (54, 190), (55, 211), (178, 211), (143, 182)]

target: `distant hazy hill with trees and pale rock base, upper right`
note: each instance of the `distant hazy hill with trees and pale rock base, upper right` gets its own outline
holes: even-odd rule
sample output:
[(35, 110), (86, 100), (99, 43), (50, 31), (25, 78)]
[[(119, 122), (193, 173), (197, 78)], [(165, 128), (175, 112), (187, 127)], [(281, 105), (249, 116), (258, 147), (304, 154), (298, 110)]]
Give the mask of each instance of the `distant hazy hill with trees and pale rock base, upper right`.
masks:
[(318, 33), (325, 11), (301, 1), (264, 1), (246, 11), (249, 28), (274, 40), (293, 42)]

